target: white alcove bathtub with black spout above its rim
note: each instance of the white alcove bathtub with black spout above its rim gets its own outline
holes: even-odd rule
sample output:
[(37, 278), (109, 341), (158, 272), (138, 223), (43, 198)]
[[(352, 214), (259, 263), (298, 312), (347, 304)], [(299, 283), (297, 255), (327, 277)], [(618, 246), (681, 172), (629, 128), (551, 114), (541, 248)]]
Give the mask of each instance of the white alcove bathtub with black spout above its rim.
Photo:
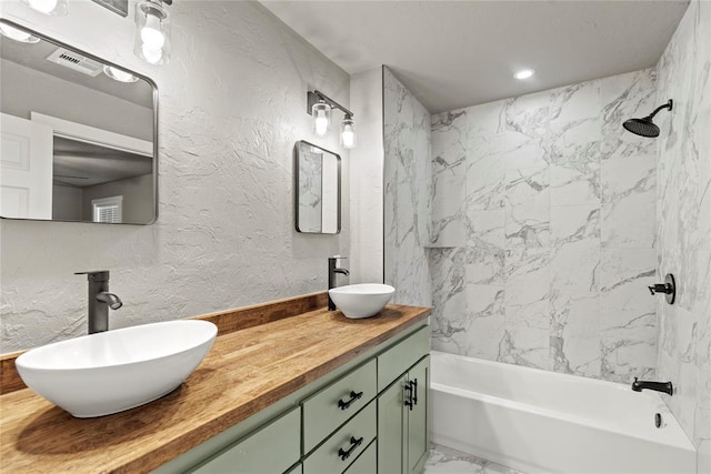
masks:
[(525, 473), (695, 473), (655, 392), (435, 351), (431, 364), (434, 444)]

